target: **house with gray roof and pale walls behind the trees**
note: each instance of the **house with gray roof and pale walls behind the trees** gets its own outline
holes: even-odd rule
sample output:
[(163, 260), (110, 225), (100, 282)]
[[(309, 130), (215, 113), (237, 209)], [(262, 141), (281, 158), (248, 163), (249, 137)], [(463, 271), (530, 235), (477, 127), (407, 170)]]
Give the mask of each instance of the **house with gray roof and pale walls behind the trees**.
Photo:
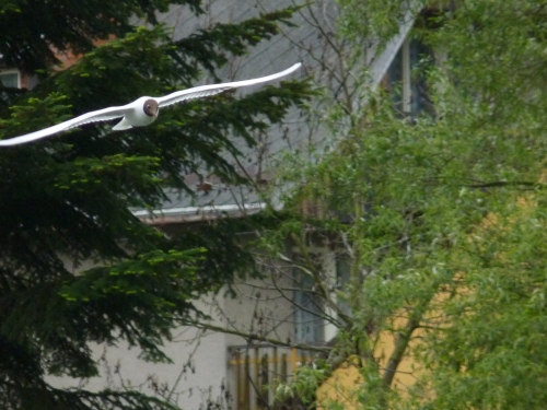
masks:
[[(338, 74), (366, 66), (368, 86), (374, 89), (391, 78), (392, 81), (401, 81), (403, 104), (410, 107), (416, 92), (408, 75), (411, 58), (405, 38), (411, 19), (401, 24), (399, 34), (381, 52), (376, 51), (372, 40), (363, 45), (366, 52), (359, 62), (360, 67), (348, 68), (339, 61), (345, 50), (344, 42), (337, 43), (335, 36), (335, 3), (316, 0), (301, 9), (294, 15), (293, 25), (282, 27), (281, 34), (255, 47), (248, 56), (232, 59), (219, 75), (226, 81), (251, 79), (281, 71), (301, 61), (303, 69), (298, 78), (310, 77), (317, 86), (325, 87), (329, 102), (340, 99), (351, 109), (361, 109), (359, 86), (356, 86), (354, 94), (340, 95)], [(216, 23), (237, 23), (292, 5), (291, 0), (210, 0), (206, 15), (199, 19), (188, 13), (184, 5), (176, 5), (160, 20), (173, 27), (173, 36), (177, 38)], [(72, 63), (72, 60), (68, 58), (67, 63)], [(205, 78), (203, 82), (208, 80)], [(32, 87), (33, 81), (15, 70), (0, 70), (3, 86)], [(237, 147), (247, 160), (242, 171), (257, 180), (267, 181), (275, 178), (276, 166), (283, 153), (315, 151), (317, 147), (335, 144), (333, 134), (324, 127), (322, 104), (317, 102), (311, 112), (294, 109), (286, 124), (256, 136), (259, 142), (256, 148)], [(176, 232), (218, 218), (245, 218), (266, 206), (260, 196), (247, 187), (226, 187), (211, 176), (188, 175), (186, 178), (188, 185), (195, 186), (209, 178), (205, 180), (209, 188), (198, 190), (195, 197), (167, 192), (171, 200), (161, 209), (135, 210), (135, 214), (160, 230)], [(282, 203), (278, 201), (276, 206), (282, 207)], [(242, 236), (242, 239), (245, 238)], [(335, 250), (319, 248), (314, 255), (333, 283), (347, 274)], [(265, 280), (236, 283), (237, 297), (220, 292), (199, 302), (198, 307), (211, 319), (200, 327), (182, 327), (173, 332), (173, 340), (166, 342), (164, 349), (173, 360), (172, 364), (143, 362), (137, 350), (124, 344), (95, 345), (94, 354), (102, 364), (102, 376), (74, 382), (74, 387), (132, 386), (188, 409), (252, 410), (265, 407), (272, 399), (276, 383), (286, 382), (295, 367), (325, 351), (325, 344), (336, 336), (336, 327), (325, 320), (327, 307), (314, 297), (313, 283), (304, 276), (292, 271), (282, 260), (271, 261), (263, 269)], [(257, 337), (253, 339), (249, 335)], [(284, 343), (276, 343), (276, 340)], [(68, 383), (65, 378), (51, 378), (50, 382), (58, 386)]]

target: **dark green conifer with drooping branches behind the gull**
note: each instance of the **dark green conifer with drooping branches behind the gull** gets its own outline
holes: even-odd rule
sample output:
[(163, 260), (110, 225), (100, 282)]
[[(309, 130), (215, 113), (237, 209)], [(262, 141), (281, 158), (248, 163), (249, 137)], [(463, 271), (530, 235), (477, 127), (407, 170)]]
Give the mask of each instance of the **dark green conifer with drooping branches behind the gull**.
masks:
[[(275, 35), (294, 11), (173, 40), (155, 20), (170, 3), (202, 12), (196, 0), (2, 2), (1, 62), (42, 81), (32, 91), (1, 90), (0, 138), (190, 86), (201, 70), (214, 74)], [(132, 26), (135, 17), (148, 26)], [(53, 50), (82, 56), (51, 70)], [(0, 152), (2, 408), (174, 408), (131, 390), (54, 388), (46, 376), (95, 376), (90, 342), (126, 340), (147, 360), (168, 361), (162, 339), (199, 316), (193, 301), (230, 284), (234, 260), (248, 258), (223, 231), (166, 237), (130, 208), (160, 208), (165, 188), (190, 195), (184, 175), (199, 171), (245, 183), (228, 155), (240, 155), (232, 138), (253, 144), (254, 132), (307, 95), (304, 84), (286, 82), (241, 99), (179, 105), (144, 129), (110, 136), (109, 126), (88, 126)]]

